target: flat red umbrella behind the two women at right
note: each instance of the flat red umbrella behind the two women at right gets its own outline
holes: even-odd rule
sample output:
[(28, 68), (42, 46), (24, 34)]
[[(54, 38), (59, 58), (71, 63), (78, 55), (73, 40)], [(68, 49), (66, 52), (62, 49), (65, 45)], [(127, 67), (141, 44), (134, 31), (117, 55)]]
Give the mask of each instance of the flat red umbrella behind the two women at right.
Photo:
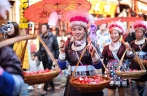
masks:
[(116, 17), (116, 18), (102, 18), (95, 21), (96, 25), (106, 24), (109, 22), (114, 21), (121, 21), (121, 22), (133, 22), (137, 20), (143, 20), (141, 17)]

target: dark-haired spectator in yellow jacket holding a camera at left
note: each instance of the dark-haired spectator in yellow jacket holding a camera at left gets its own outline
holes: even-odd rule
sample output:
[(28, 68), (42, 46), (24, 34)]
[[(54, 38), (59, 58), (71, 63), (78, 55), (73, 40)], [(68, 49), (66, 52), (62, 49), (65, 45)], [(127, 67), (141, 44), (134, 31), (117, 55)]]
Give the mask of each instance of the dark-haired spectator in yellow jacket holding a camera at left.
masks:
[[(12, 29), (11, 29), (11, 32), (8, 32), (8, 39), (20, 36), (18, 24), (16, 22), (11, 22), (11, 24), (12, 24)], [(16, 42), (10, 45), (10, 47), (13, 48), (14, 52), (16, 53), (18, 58), (21, 60), (22, 69), (25, 71), (29, 69), (27, 41)]]

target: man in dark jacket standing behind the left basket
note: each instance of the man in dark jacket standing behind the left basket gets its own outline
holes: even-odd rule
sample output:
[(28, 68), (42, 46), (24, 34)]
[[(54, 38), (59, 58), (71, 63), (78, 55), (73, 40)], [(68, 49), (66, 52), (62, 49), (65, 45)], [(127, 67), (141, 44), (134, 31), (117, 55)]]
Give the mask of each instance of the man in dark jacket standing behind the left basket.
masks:
[[(55, 59), (58, 59), (59, 47), (58, 47), (57, 37), (52, 34), (52, 28), (49, 28), (48, 24), (42, 24), (41, 31), (42, 31), (41, 34), (42, 40), (48, 46)], [(41, 43), (38, 53), (39, 53), (39, 59), (42, 61), (44, 69), (46, 68), (51, 69), (53, 62)], [(44, 91), (42, 92), (42, 95), (45, 95), (47, 93), (47, 88), (49, 84), (52, 87), (51, 90), (55, 89), (53, 81), (49, 83), (45, 83), (43, 88)]]

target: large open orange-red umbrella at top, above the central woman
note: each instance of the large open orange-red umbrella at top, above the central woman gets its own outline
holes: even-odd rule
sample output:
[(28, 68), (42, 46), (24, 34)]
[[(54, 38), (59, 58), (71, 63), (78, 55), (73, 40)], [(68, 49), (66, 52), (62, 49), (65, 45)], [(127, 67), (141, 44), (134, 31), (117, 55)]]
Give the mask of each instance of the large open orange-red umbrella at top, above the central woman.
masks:
[(85, 8), (88, 11), (90, 7), (91, 4), (87, 0), (43, 0), (28, 7), (24, 12), (24, 17), (29, 21), (48, 23), (52, 12), (62, 15), (77, 8)]

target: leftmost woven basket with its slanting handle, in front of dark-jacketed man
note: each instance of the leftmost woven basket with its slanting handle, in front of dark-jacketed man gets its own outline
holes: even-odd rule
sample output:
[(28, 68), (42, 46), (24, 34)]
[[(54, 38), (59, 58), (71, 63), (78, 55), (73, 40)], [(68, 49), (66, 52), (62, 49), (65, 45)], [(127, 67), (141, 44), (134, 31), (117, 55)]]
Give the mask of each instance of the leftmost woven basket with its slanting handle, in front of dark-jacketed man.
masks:
[(51, 51), (49, 50), (47, 45), (44, 43), (44, 41), (38, 36), (38, 34), (36, 34), (36, 35), (37, 35), (38, 39), (40, 40), (40, 42), (42, 43), (42, 45), (44, 46), (47, 53), (49, 54), (51, 60), (53, 61), (53, 64), (55, 64), (56, 68), (53, 71), (47, 72), (47, 73), (25, 75), (24, 81), (25, 81), (25, 83), (27, 83), (29, 85), (40, 84), (40, 83), (52, 81), (60, 73), (60, 68), (59, 68), (57, 61), (55, 60), (54, 56), (52, 55)]

